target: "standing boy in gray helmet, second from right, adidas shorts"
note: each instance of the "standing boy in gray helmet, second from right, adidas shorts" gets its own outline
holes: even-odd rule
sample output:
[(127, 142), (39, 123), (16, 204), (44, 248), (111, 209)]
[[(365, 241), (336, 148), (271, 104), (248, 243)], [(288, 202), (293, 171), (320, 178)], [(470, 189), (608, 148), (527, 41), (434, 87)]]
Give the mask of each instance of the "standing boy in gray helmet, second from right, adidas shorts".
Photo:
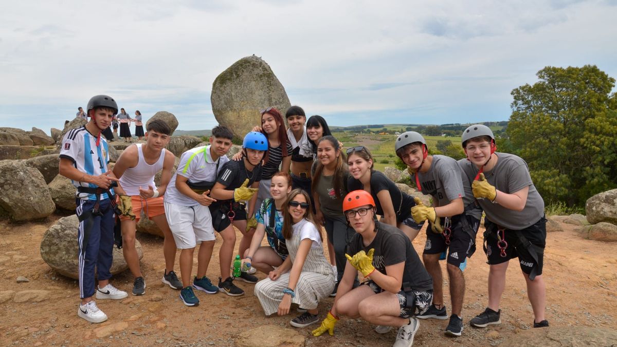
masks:
[(450, 279), (450, 300), (452, 315), (445, 328), (445, 334), (460, 336), (463, 332), (463, 297), (465, 277), (463, 270), (466, 258), (475, 251), (476, 233), (482, 217), (469, 182), (463, 177), (457, 161), (447, 156), (429, 156), (424, 137), (416, 132), (402, 133), (395, 142), (395, 151), (408, 167), (412, 181), (418, 191), (433, 199), (433, 206), (424, 206), (416, 198), (412, 216), (416, 223), (429, 220), (426, 229), (426, 245), (422, 259), (424, 266), (433, 277), (433, 304), (428, 311), (419, 314), (421, 319), (448, 319), (444, 306), (442, 272), (439, 266), (440, 254), (447, 251), (447, 271)]

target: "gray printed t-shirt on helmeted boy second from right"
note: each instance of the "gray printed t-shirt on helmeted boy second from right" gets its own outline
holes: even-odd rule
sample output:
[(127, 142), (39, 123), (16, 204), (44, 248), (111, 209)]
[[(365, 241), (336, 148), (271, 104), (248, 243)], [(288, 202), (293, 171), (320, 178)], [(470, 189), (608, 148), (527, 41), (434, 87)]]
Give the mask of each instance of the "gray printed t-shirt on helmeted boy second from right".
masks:
[[(463, 173), (457, 161), (448, 156), (433, 156), (433, 162), (428, 172), (418, 172), (418, 179), (424, 195), (431, 195), (439, 206), (445, 206), (455, 199), (463, 198), (463, 206), (473, 206), (476, 198), (473, 197), (469, 180), (463, 180)], [(415, 182), (412, 175), (412, 182)], [(479, 208), (468, 209), (468, 215), (476, 219), (482, 218)]]

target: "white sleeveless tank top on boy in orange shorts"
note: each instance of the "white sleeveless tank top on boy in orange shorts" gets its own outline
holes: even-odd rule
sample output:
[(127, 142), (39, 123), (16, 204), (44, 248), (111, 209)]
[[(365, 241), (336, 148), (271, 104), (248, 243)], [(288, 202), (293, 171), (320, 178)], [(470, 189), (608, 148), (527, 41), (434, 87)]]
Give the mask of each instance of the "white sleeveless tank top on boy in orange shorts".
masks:
[(141, 150), (141, 145), (143, 143), (136, 143), (137, 153), (138, 153), (138, 162), (135, 167), (129, 167), (125, 170), (122, 177), (120, 177), (120, 186), (122, 189), (126, 191), (127, 195), (139, 195), (139, 187), (142, 189), (147, 189), (148, 186), (152, 186), (153, 189), (156, 189), (156, 185), (154, 184), (154, 175), (163, 169), (163, 162), (165, 161), (165, 148), (160, 152), (160, 157), (157, 162), (150, 165), (144, 159), (144, 153)]

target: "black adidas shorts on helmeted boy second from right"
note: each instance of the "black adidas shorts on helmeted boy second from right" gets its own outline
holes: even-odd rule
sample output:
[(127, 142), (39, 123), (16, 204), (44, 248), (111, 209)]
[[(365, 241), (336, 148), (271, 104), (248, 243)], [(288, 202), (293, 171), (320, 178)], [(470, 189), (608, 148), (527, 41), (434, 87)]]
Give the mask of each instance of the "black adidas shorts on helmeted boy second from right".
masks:
[[(450, 219), (452, 223), (450, 226), (452, 232), (450, 245), (446, 245), (444, 234), (434, 233), (429, 226), (426, 228), (426, 243), (423, 252), (424, 254), (439, 254), (447, 250), (448, 264), (458, 267), (461, 271), (465, 270), (466, 258), (471, 257), (476, 251), (476, 239), (472, 238), (469, 232), (463, 230), (462, 218), (467, 220), (468, 226), (475, 236), (480, 227), (480, 221), (471, 215), (455, 215)], [(444, 225), (444, 219), (441, 220), (442, 225)]]

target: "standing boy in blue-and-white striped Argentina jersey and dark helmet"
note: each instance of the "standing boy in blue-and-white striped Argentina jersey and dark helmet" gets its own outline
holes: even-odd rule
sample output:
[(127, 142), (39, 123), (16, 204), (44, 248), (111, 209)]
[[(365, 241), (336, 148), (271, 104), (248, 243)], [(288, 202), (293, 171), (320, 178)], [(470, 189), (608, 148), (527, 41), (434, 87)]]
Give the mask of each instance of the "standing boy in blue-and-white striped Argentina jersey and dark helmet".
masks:
[[(118, 105), (110, 96), (97, 95), (88, 101), (89, 122), (70, 130), (60, 148), (60, 175), (72, 180), (77, 188), (77, 217), (80, 220), (77, 238), (79, 246), (79, 289), (81, 303), (77, 316), (91, 323), (107, 320), (93, 299), (123, 299), (128, 296), (109, 283), (112, 277), (114, 250), (114, 198), (112, 183), (118, 179), (108, 170), (109, 146), (101, 132), (109, 127), (118, 113)], [(99, 280), (95, 288), (94, 269)]]

